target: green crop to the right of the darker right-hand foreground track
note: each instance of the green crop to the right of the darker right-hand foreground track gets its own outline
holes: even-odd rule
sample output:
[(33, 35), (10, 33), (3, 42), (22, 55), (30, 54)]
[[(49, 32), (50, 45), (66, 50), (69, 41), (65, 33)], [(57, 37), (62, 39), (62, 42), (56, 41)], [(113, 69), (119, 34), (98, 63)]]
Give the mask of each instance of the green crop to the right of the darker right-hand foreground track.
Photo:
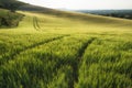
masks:
[(124, 36), (96, 40), (87, 50), (75, 88), (131, 88), (132, 41)]

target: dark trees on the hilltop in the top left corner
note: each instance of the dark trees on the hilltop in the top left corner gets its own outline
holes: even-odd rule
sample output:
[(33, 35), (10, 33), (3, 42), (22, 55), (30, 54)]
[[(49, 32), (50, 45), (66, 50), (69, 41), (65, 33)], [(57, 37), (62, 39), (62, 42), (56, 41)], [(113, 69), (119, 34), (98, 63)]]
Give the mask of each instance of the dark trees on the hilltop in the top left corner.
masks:
[(24, 3), (18, 0), (0, 0), (0, 8), (15, 12)]

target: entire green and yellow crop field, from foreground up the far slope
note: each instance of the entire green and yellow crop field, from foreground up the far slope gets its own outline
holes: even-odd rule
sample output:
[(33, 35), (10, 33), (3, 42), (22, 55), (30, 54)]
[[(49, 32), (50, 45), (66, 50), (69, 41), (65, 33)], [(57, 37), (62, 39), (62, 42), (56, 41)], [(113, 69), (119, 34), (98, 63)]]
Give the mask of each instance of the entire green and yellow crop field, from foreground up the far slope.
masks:
[(0, 29), (0, 88), (132, 88), (132, 21), (19, 13)]

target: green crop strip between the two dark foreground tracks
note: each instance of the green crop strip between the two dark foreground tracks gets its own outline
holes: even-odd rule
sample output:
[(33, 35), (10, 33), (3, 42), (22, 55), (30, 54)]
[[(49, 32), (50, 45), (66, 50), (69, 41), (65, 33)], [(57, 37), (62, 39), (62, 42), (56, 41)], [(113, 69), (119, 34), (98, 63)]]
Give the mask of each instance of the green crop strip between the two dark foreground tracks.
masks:
[(88, 35), (73, 35), (22, 52), (2, 65), (1, 88), (73, 88), (78, 58), (91, 41)]

